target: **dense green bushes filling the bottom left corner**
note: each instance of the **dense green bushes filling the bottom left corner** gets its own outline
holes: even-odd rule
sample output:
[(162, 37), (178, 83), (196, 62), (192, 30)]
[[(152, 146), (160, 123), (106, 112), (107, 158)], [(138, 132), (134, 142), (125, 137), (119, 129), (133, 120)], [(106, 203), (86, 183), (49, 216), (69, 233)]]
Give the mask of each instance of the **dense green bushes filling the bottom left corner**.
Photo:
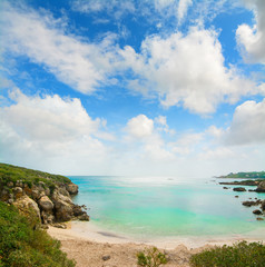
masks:
[(60, 241), (0, 201), (0, 267), (73, 267)]

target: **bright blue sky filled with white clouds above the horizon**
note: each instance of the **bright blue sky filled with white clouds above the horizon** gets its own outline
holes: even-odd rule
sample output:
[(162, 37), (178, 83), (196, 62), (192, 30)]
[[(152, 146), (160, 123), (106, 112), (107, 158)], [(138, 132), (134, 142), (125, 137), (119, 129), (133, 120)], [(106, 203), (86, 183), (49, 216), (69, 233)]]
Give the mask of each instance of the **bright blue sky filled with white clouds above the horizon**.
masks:
[(1, 162), (265, 169), (264, 0), (0, 0), (0, 59)]

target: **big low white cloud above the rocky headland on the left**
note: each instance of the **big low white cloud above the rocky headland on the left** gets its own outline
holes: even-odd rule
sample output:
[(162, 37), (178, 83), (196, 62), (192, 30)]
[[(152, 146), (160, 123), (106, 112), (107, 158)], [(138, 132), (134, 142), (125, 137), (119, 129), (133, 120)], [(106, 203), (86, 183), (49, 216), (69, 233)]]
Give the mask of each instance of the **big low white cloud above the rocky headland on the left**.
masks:
[(28, 97), (18, 89), (10, 98), (12, 103), (0, 109), (1, 161), (66, 174), (94, 171), (106, 159), (108, 149), (97, 138), (101, 120), (92, 119), (79, 99)]

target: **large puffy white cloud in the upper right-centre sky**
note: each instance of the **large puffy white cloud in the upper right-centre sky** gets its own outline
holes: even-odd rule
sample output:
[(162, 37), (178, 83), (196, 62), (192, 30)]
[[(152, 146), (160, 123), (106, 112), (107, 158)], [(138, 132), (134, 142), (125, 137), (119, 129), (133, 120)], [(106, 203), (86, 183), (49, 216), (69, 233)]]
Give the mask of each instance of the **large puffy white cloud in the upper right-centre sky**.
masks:
[(214, 30), (192, 28), (167, 38), (153, 36), (141, 52), (126, 47), (120, 55), (138, 79), (129, 87), (143, 95), (154, 93), (165, 107), (179, 106), (196, 113), (214, 112), (220, 102), (236, 102), (256, 93), (254, 82), (224, 65), (222, 46)]

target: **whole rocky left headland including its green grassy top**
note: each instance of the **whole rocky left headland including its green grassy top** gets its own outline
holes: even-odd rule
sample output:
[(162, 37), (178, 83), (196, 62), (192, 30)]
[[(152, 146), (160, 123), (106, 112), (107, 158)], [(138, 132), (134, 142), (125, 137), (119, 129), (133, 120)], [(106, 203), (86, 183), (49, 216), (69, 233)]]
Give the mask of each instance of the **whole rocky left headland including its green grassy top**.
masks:
[(86, 207), (72, 202), (77, 194), (78, 186), (67, 177), (0, 164), (0, 200), (42, 225), (62, 227), (58, 222), (89, 220)]

